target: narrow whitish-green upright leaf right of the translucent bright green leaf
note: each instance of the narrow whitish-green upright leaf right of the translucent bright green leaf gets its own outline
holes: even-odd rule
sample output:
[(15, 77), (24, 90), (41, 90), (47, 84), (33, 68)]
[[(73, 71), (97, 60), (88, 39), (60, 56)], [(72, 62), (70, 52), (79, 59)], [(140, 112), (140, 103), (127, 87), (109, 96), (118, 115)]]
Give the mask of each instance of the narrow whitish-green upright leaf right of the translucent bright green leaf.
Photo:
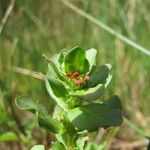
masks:
[(86, 51), (86, 58), (90, 65), (88, 75), (90, 75), (96, 68), (96, 55), (97, 55), (97, 50), (94, 48), (91, 48)]

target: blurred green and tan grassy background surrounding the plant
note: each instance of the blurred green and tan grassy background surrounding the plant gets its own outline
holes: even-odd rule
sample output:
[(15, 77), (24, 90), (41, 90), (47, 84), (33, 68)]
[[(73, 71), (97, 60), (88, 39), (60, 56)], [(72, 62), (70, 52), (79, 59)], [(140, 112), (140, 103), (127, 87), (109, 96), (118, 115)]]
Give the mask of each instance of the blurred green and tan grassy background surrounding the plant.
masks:
[[(70, 0), (115, 31), (150, 49), (150, 1)], [(14, 4), (6, 23), (4, 16)], [(111, 63), (113, 80), (105, 92), (122, 100), (130, 120), (113, 130), (91, 134), (91, 141), (106, 141), (110, 149), (145, 149), (150, 136), (150, 57), (74, 12), (60, 0), (0, 0), (0, 149), (29, 149), (35, 144), (50, 147), (55, 138), (39, 129), (30, 113), (17, 109), (19, 95), (32, 96), (53, 111), (43, 81), (23, 75), (27, 70), (47, 71), (42, 53), (54, 53), (79, 45), (98, 50), (98, 63)], [(101, 137), (101, 138), (100, 138)], [(111, 138), (110, 138), (111, 137)], [(90, 142), (90, 141), (89, 141)], [(120, 145), (119, 145), (120, 144)], [(118, 147), (117, 147), (118, 146)]]

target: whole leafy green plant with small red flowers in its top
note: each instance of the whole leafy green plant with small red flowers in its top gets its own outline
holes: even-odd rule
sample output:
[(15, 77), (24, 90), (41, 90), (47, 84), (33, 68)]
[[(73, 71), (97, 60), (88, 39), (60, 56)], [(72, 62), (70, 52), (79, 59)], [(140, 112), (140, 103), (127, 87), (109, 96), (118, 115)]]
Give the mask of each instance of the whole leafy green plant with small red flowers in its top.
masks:
[(93, 48), (84, 51), (75, 47), (50, 59), (45, 57), (49, 63), (46, 88), (56, 102), (53, 116), (43, 105), (27, 96), (16, 99), (19, 108), (35, 113), (39, 125), (56, 134), (57, 141), (52, 149), (85, 149), (83, 133), (122, 123), (118, 96), (101, 100), (112, 78), (111, 65), (97, 66), (96, 54)]

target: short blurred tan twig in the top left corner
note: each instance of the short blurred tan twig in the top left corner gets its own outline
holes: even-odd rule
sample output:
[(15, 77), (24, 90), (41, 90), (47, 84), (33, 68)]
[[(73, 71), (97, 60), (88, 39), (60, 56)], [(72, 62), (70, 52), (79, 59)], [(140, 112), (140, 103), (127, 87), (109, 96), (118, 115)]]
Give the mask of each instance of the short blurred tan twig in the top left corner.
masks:
[(1, 35), (2, 31), (3, 31), (4, 25), (6, 24), (6, 22), (8, 20), (9, 15), (11, 14), (11, 12), (12, 12), (12, 10), (14, 8), (14, 4), (15, 4), (15, 0), (11, 0), (10, 4), (9, 4), (7, 10), (6, 10), (6, 13), (4, 14), (4, 17), (2, 19), (2, 23), (0, 25), (0, 35)]

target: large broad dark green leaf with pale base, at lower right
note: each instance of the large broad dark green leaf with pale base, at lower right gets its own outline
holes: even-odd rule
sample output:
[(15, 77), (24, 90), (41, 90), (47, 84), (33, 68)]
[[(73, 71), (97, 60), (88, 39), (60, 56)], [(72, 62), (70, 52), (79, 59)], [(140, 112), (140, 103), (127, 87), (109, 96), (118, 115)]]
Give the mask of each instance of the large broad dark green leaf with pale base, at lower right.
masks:
[(117, 126), (123, 121), (119, 109), (110, 109), (105, 104), (89, 104), (67, 112), (70, 122), (80, 131), (96, 131), (99, 127)]

